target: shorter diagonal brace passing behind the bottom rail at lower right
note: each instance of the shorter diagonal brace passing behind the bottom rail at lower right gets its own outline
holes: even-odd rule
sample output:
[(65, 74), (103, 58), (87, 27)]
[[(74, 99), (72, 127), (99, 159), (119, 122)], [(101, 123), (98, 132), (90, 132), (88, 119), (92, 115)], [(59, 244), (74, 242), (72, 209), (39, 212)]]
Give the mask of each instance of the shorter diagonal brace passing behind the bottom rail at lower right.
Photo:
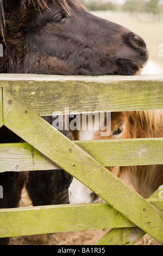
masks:
[[(161, 192), (161, 193), (160, 193)], [(156, 206), (155, 202), (160, 203), (160, 194), (163, 192), (163, 185), (156, 190), (151, 197), (149, 197), (148, 202), (151, 201)], [(163, 202), (163, 200), (162, 200)], [(159, 210), (163, 211), (163, 205)], [(95, 245), (134, 245), (141, 237), (143, 237), (146, 233), (140, 228), (114, 228), (108, 231), (101, 239), (99, 239)]]

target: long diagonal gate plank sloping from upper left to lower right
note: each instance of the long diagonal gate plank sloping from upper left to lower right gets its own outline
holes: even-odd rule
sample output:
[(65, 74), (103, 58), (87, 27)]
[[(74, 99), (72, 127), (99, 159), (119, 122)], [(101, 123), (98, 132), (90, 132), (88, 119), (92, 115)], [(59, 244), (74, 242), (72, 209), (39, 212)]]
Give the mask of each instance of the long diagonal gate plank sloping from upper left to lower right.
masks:
[(5, 126), (163, 243), (161, 211), (5, 90), (3, 115)]

